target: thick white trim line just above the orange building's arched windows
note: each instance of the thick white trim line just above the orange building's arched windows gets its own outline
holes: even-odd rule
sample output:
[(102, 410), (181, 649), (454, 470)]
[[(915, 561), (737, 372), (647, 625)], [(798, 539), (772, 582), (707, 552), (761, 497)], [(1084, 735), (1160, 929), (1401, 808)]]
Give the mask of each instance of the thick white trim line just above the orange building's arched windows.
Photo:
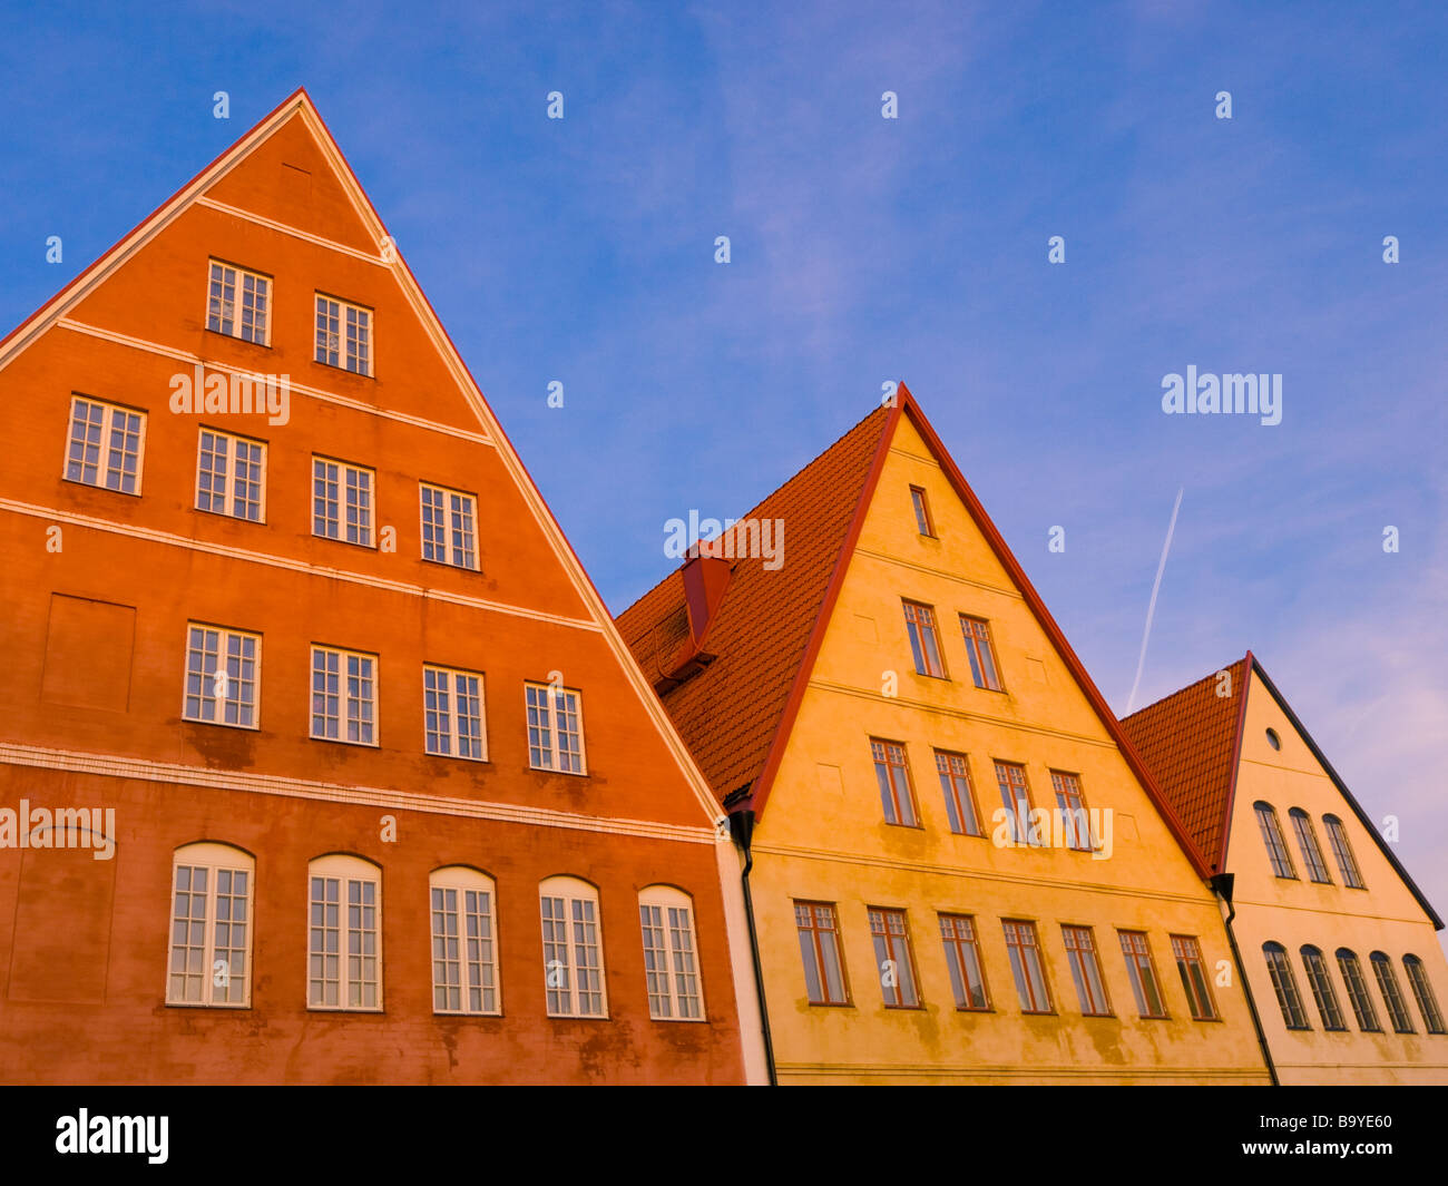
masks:
[(475, 802), (443, 795), (421, 795), (390, 791), (379, 786), (345, 786), (334, 782), (256, 775), (245, 770), (216, 770), (204, 766), (184, 766), (174, 762), (148, 762), (139, 757), (87, 753), (84, 750), (52, 750), (43, 746), (22, 746), (0, 741), (0, 763), (30, 766), (46, 770), (68, 770), (80, 775), (140, 779), (182, 786), (206, 786), (216, 791), (243, 791), (261, 795), (281, 795), (290, 799), (352, 804), (353, 807), (384, 807), (392, 811), (424, 811), (430, 815), (460, 815), (472, 820), (495, 820), (505, 824), (529, 824), (543, 828), (599, 831), (615, 836), (639, 836), (649, 840), (676, 840), (685, 844), (714, 844), (710, 828), (683, 824), (652, 824), (646, 820), (614, 820), (584, 815), (576, 811), (552, 811), (517, 804)]

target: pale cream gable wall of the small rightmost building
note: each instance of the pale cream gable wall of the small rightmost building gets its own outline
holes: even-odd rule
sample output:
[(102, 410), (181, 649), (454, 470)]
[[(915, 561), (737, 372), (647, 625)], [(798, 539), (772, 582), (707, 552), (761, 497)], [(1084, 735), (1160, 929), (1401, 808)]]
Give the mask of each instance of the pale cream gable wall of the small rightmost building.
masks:
[[(1274, 750), (1268, 743), (1268, 728), (1277, 733), (1281, 750)], [(1328, 757), (1331, 759), (1329, 750)], [(1258, 799), (1277, 811), (1296, 880), (1273, 873), (1253, 807)], [(1295, 807), (1312, 817), (1318, 846), (1332, 878), (1331, 885), (1315, 883), (1308, 876), (1289, 818), (1289, 811)], [(1342, 885), (1326, 825), (1322, 823), (1323, 815), (1337, 815), (1347, 827), (1348, 843), (1365, 889), (1348, 889)], [(1247, 695), (1226, 867), (1237, 878), (1237, 943), (1261, 1012), (1267, 1046), (1283, 1083), (1448, 1083), (1448, 1037), (1426, 1033), (1403, 969), (1405, 954), (1423, 960), (1442, 1011), (1448, 1004), (1448, 964), (1444, 962), (1438, 934), (1255, 673)], [(1287, 1028), (1263, 954), (1263, 944), (1268, 941), (1287, 949), (1310, 1030)], [(1323, 953), (1347, 1033), (1323, 1030), (1302, 962), (1300, 949), (1305, 944)], [(1339, 947), (1357, 953), (1368, 998), (1383, 1027), (1380, 1034), (1358, 1030), (1335, 959)], [(1392, 957), (1415, 1034), (1393, 1033), (1383, 995), (1368, 964), (1373, 951)]]

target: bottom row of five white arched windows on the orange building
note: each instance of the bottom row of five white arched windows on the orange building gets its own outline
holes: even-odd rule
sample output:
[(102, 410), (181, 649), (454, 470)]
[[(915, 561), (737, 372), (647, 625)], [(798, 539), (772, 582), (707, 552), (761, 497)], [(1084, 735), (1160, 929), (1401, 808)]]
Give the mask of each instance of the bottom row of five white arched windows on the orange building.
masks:
[[(381, 1011), (382, 870), (349, 856), (307, 867), (307, 1008)], [(223, 844), (177, 850), (168, 1005), (248, 1008), (255, 860)], [(433, 1012), (501, 1015), (497, 886), (468, 866), (427, 879)], [(539, 885), (543, 995), (549, 1017), (608, 1017), (598, 891), (578, 878)], [(686, 893), (639, 893), (649, 1015), (702, 1021), (694, 909)]]

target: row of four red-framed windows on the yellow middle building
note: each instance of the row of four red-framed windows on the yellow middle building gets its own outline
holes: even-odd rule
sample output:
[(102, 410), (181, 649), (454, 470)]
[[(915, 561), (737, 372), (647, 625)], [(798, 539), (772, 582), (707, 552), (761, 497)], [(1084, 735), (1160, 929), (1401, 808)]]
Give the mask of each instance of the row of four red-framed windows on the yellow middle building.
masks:
[[(935, 776), (946, 799), (946, 817), (950, 830), (959, 836), (985, 836), (980, 812), (976, 809), (975, 785), (970, 778), (970, 759), (953, 750), (933, 750)], [(880, 791), (880, 807), (886, 824), (921, 827), (919, 809), (915, 801), (915, 785), (911, 779), (909, 762), (904, 741), (870, 739), (870, 757), (875, 760), (875, 781)], [(1015, 844), (1040, 843), (1030, 825), (1034, 809), (1031, 786), (1025, 766), (1018, 762), (993, 760), (996, 788), (1005, 808), (1008, 834)], [(1089, 853), (1099, 847), (1099, 837), (1092, 836), (1086, 799), (1077, 775), (1066, 770), (1051, 770), (1051, 791), (1056, 795), (1056, 809), (1061, 818), (1063, 836), (1069, 847)], [(1048, 837), (1047, 837), (1048, 840)]]

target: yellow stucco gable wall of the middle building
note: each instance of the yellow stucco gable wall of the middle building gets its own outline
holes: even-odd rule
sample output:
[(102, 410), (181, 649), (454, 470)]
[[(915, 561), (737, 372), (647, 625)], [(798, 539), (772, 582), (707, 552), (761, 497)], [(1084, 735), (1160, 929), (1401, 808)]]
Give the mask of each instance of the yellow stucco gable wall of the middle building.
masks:
[[(912, 484), (928, 492), (937, 540), (917, 533)], [(915, 675), (902, 597), (935, 607), (948, 681)], [(959, 613), (990, 621), (1005, 692), (975, 686)], [(882, 694), (891, 670), (893, 697)], [(872, 736), (905, 743), (924, 827), (883, 823)], [(934, 747), (969, 756), (983, 838), (951, 834)], [(1035, 807), (1054, 807), (1051, 769), (1077, 773), (1087, 807), (1115, 812), (1111, 857), (996, 847), (993, 759), (1025, 765)], [(1216, 899), (905, 417), (754, 851), (754, 907), (783, 1083), (1267, 1080)], [(853, 998), (847, 1008), (808, 1004), (795, 899), (837, 907)], [(924, 1008), (883, 1005), (869, 907), (908, 911)], [(937, 911), (975, 915), (993, 1012), (956, 1008)], [(1002, 918), (1035, 921), (1056, 1015), (1022, 1014)], [(1061, 924), (1095, 930), (1115, 1017), (1082, 1015)], [(1138, 1017), (1116, 928), (1148, 934), (1169, 1019)], [(1221, 1021), (1190, 1018), (1171, 934), (1197, 937)], [(1218, 967), (1229, 983), (1216, 983)]]

